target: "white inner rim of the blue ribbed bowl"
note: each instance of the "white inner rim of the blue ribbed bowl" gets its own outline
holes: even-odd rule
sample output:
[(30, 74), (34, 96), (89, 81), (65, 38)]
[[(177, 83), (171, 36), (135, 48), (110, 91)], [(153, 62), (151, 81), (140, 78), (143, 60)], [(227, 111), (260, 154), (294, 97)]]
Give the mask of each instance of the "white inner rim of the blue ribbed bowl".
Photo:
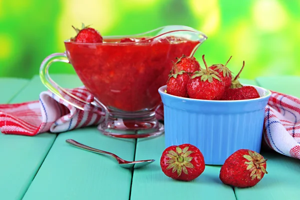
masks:
[(272, 94), (272, 92), (269, 89), (265, 89), (263, 87), (260, 86), (256, 86), (256, 85), (251, 85), (251, 84), (243, 84), (242, 85), (248, 85), (248, 86), (253, 86), (256, 89), (261, 89), (262, 91), (264, 91), (265, 95), (264, 96), (260, 96), (259, 98), (251, 98), (251, 99), (242, 99), (242, 100), (205, 100), (205, 99), (195, 99), (195, 98), (187, 98), (187, 97), (181, 97), (181, 96), (175, 96), (172, 94), (168, 94), (165, 92), (166, 89), (166, 85), (163, 85), (161, 87), (158, 88), (158, 92), (160, 94), (169, 96), (169, 97), (173, 97), (173, 98), (177, 98), (178, 100), (184, 100), (184, 101), (194, 101), (194, 102), (228, 102), (228, 103), (234, 103), (234, 102), (246, 102), (246, 101), (257, 101), (260, 99), (265, 99), (270, 97), (270, 95)]

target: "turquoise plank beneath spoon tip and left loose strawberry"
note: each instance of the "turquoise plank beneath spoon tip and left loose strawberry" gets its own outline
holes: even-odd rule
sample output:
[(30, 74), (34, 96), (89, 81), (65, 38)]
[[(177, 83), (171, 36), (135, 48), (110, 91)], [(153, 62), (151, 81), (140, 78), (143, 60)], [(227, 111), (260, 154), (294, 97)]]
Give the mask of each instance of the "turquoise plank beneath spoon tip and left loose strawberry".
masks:
[(167, 177), (159, 160), (164, 150), (164, 135), (152, 139), (137, 139), (135, 159), (155, 159), (140, 169), (134, 169), (131, 200), (147, 199), (235, 199), (232, 187), (218, 178), (219, 165), (206, 165), (196, 179), (184, 182)]

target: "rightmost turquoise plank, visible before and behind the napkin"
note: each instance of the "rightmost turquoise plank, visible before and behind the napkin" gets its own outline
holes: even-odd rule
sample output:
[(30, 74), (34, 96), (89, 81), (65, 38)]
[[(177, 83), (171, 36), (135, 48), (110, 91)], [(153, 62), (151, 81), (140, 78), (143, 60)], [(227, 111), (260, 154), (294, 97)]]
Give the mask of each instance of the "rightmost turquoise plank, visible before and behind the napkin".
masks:
[[(275, 91), (300, 97), (299, 76), (277, 76), (256, 78), (259, 86)], [(262, 151), (267, 158), (266, 170), (268, 174), (255, 186), (249, 188), (234, 188), (238, 200), (253, 199), (253, 194), (259, 199), (299, 199), (300, 160), (287, 157), (275, 151)]]

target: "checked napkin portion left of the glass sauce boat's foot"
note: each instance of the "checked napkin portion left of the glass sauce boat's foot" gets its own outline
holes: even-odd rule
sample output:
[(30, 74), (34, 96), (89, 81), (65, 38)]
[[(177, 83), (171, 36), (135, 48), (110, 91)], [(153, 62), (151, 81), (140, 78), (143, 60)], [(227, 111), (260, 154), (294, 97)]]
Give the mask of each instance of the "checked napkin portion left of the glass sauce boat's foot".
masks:
[[(84, 87), (65, 89), (87, 102), (93, 96)], [(60, 93), (63, 93), (60, 90)], [(67, 100), (68, 95), (63, 95)], [(4, 134), (36, 135), (42, 132), (64, 132), (89, 125), (96, 125), (104, 120), (101, 108), (80, 104), (87, 111), (78, 109), (54, 95), (42, 91), (39, 100), (24, 103), (0, 104), (0, 130)]]

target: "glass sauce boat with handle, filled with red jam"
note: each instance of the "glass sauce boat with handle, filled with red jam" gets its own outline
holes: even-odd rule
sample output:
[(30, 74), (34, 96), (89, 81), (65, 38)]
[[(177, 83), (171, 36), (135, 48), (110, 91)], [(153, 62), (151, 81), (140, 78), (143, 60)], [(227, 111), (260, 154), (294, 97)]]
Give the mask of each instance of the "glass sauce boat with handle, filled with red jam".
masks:
[[(134, 41), (120, 42), (122, 38)], [(206, 38), (191, 27), (169, 25), (140, 34), (103, 36), (103, 43), (65, 40), (64, 53), (53, 53), (42, 61), (40, 79), (78, 109), (104, 115), (97, 128), (105, 135), (157, 136), (164, 131), (155, 118), (161, 102), (158, 88), (166, 84), (172, 61), (183, 54), (193, 56)], [(93, 99), (87, 101), (55, 83), (48, 74), (55, 61), (70, 63)]]

